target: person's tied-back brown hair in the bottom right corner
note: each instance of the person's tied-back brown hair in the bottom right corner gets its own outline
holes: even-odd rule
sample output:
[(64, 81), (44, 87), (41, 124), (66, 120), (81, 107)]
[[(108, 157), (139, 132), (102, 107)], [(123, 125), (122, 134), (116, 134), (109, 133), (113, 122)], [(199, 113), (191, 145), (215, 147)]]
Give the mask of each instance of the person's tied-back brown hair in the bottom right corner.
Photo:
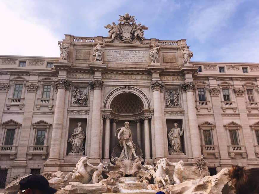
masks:
[(259, 193), (259, 168), (244, 169), (238, 165), (232, 165), (229, 177), (233, 180), (237, 194)]

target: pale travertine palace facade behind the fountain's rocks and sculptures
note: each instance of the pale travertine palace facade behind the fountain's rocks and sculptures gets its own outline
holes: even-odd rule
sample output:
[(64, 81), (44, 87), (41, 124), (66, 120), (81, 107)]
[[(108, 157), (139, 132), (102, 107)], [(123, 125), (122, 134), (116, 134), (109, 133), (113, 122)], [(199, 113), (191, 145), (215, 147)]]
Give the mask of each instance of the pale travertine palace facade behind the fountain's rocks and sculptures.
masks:
[[(130, 17), (121, 20), (130, 26)], [(185, 40), (112, 33), (65, 35), (61, 58), (0, 56), (0, 172), (7, 183), (31, 169), (71, 172), (82, 152), (93, 165), (109, 162), (125, 121), (145, 161), (192, 166), (203, 154), (216, 171), (259, 166), (258, 63), (193, 62)], [(174, 123), (184, 128), (182, 152), (169, 151)], [(78, 154), (81, 144), (71, 148), (70, 139), (77, 131)]]

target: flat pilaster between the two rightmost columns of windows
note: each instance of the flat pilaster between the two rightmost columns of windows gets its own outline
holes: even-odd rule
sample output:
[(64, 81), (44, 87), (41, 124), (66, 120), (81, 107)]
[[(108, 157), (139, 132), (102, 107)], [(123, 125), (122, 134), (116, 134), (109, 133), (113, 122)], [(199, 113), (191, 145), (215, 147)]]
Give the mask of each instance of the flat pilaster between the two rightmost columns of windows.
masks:
[(253, 141), (252, 141), (253, 137), (251, 136), (251, 130), (249, 127), (249, 121), (246, 113), (247, 111), (246, 111), (246, 101), (244, 98), (244, 92), (245, 92), (244, 88), (234, 88), (234, 93), (235, 93), (236, 101), (238, 105), (237, 107), (241, 118), (240, 121), (243, 129), (243, 137), (244, 137), (244, 144), (246, 146), (247, 158), (248, 160), (249, 159), (257, 160), (255, 156)]

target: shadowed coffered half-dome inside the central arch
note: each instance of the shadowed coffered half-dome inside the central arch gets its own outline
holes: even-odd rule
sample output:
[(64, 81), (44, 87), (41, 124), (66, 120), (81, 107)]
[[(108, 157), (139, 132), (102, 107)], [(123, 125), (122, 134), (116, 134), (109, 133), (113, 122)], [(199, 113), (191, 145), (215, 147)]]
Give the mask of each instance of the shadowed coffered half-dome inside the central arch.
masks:
[(130, 92), (123, 92), (114, 97), (110, 108), (116, 114), (137, 114), (142, 111), (144, 104), (137, 95)]

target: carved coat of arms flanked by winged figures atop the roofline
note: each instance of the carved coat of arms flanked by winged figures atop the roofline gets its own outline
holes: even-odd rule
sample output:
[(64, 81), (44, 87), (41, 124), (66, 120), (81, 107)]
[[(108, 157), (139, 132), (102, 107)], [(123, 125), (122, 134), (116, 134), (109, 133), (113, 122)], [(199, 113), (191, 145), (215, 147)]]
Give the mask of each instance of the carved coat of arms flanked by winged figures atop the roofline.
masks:
[(141, 44), (149, 44), (142, 42), (145, 40), (144, 38), (144, 31), (147, 30), (148, 27), (142, 25), (141, 23), (136, 23), (136, 20), (134, 19), (135, 15), (131, 16), (128, 13), (125, 13), (125, 15), (120, 16), (120, 19), (118, 20), (119, 23), (116, 25), (115, 22), (112, 23), (112, 25), (107, 24), (104, 26), (104, 28), (110, 29), (108, 31), (109, 36), (108, 38), (111, 38), (111, 41), (113, 42), (115, 38), (117, 38), (121, 42), (135, 42), (136, 40), (139, 40)]

